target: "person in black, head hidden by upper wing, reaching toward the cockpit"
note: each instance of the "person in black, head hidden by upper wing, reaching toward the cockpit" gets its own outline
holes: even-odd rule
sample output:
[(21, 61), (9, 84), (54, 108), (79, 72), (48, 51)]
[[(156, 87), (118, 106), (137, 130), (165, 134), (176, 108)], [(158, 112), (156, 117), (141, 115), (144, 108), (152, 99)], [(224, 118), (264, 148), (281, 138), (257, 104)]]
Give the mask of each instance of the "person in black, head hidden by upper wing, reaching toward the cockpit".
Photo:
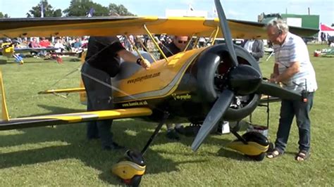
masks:
[[(119, 71), (120, 58), (137, 63), (146, 69), (150, 67), (150, 63), (126, 51), (117, 37), (90, 37), (87, 48), (87, 56), (81, 70), (87, 93), (87, 111), (111, 110), (113, 109), (111, 77), (115, 77)], [(104, 150), (123, 148), (113, 142), (112, 122), (113, 120), (88, 122), (87, 138), (101, 138)]]

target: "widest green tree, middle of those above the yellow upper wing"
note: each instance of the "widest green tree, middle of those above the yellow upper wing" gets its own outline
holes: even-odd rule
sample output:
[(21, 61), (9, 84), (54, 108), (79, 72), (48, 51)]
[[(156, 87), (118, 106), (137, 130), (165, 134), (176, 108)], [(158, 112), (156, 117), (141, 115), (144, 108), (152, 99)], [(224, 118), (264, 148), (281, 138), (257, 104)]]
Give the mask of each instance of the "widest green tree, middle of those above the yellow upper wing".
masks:
[(94, 15), (96, 16), (109, 15), (109, 9), (107, 7), (89, 0), (71, 0), (70, 7), (66, 8), (63, 13), (65, 13), (66, 16), (85, 16), (90, 8), (94, 8)]

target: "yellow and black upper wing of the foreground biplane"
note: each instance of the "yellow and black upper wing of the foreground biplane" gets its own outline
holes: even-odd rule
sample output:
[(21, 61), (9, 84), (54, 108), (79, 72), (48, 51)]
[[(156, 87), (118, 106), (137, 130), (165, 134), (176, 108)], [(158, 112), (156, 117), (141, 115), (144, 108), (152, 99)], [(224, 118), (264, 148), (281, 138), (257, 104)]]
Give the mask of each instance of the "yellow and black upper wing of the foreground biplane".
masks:
[[(143, 25), (155, 34), (192, 35), (209, 37), (218, 27), (218, 19), (197, 17), (93, 17), (93, 18), (4, 18), (0, 19), (0, 37), (65, 37), (114, 36), (147, 34)], [(264, 24), (241, 20), (228, 20), (233, 38), (266, 39)], [(290, 27), (290, 31), (310, 36), (314, 29)], [(223, 37), (219, 32), (218, 37)]]

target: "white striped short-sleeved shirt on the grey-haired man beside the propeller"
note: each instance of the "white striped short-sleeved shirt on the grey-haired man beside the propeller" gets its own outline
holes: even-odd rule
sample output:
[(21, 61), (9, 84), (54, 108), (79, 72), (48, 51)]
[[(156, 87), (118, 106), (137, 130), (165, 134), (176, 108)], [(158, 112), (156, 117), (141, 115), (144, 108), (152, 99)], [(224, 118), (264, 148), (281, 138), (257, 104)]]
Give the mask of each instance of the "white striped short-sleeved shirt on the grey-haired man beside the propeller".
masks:
[(287, 32), (287, 37), (283, 44), (281, 46), (274, 45), (273, 49), (275, 51), (275, 60), (276, 64), (278, 64), (279, 74), (285, 72), (292, 63), (300, 63), (299, 72), (286, 82), (283, 82), (286, 89), (298, 92), (302, 92), (306, 87), (309, 92), (318, 89), (318, 85), (316, 84), (316, 73), (309, 60), (309, 51), (301, 37)]

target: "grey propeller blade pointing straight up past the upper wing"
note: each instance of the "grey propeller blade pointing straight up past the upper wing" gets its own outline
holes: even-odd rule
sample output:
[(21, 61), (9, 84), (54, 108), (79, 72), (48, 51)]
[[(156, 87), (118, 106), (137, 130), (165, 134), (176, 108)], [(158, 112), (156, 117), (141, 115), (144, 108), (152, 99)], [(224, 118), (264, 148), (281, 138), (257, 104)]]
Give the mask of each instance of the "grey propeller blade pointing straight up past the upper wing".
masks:
[(228, 27), (228, 21), (226, 20), (223, 7), (221, 6), (221, 1), (215, 0), (214, 2), (216, 4), (216, 9), (219, 18), (219, 25), (221, 26), (221, 30), (223, 31), (226, 46), (228, 47), (228, 51), (230, 52), (230, 57), (233, 60), (233, 65), (237, 66), (238, 65), (237, 55), (235, 54), (230, 27)]

